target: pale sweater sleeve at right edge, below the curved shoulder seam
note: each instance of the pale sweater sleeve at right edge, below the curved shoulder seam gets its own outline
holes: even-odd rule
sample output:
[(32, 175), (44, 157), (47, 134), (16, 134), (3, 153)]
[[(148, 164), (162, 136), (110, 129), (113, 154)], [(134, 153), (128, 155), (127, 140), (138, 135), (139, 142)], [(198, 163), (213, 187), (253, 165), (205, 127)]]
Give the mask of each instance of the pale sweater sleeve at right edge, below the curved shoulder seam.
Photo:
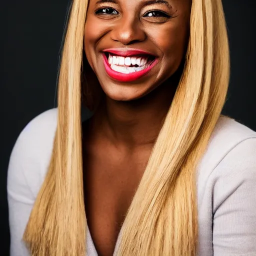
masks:
[(234, 146), (214, 169), (214, 256), (256, 255), (256, 138)]

